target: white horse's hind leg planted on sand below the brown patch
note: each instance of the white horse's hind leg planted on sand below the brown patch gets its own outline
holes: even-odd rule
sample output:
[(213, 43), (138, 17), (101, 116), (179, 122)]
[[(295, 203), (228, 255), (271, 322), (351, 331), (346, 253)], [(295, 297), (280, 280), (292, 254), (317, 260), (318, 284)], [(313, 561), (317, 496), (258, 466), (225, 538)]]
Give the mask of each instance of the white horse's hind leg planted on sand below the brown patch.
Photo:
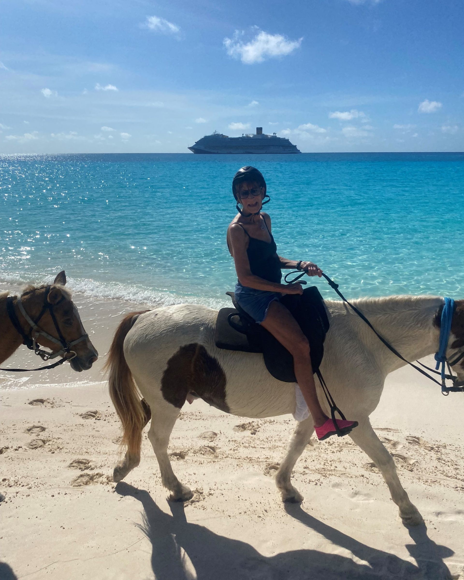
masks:
[(158, 459), (162, 484), (171, 492), (169, 499), (180, 502), (187, 501), (193, 496), (193, 492), (177, 479), (168, 457), (169, 437), (179, 416), (180, 409), (165, 401), (151, 405), (150, 408), (151, 425), (148, 431), (148, 439), (150, 439), (153, 451)]

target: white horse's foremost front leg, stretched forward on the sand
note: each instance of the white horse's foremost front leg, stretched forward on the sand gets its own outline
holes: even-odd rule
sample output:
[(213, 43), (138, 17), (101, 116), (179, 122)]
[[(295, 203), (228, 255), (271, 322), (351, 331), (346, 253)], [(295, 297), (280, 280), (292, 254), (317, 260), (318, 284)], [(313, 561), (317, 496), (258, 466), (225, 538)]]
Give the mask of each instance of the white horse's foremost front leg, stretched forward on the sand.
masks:
[(422, 523), (422, 516), (418, 509), (411, 503), (408, 494), (404, 491), (396, 473), (393, 457), (384, 447), (382, 441), (376, 436), (368, 418), (359, 420), (359, 425), (350, 433), (354, 443), (361, 447), (382, 473), (389, 487), (391, 499), (400, 509), (400, 516), (404, 524), (418, 525)]

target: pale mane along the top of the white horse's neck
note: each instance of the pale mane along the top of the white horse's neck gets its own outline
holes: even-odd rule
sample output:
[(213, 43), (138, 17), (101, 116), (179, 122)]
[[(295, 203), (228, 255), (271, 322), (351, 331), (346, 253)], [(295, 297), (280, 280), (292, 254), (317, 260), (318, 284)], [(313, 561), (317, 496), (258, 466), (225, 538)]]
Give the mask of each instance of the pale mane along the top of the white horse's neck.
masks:
[[(341, 300), (325, 300), (325, 302), (331, 309), (347, 309), (347, 313), (357, 316)], [(365, 316), (385, 316), (397, 312), (419, 311), (427, 307), (430, 309), (438, 309), (443, 304), (443, 298), (441, 296), (411, 296), (409, 294), (403, 294), (397, 296), (380, 296), (379, 298), (357, 298), (350, 300), (350, 302), (357, 309), (361, 310)]]

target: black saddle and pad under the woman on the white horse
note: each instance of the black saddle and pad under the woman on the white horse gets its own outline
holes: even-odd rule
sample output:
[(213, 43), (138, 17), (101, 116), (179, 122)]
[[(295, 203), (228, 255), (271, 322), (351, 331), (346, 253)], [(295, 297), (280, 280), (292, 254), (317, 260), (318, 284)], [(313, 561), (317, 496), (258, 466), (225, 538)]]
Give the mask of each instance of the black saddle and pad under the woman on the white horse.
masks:
[[(293, 357), (270, 332), (241, 309), (233, 292), (226, 292), (235, 308), (222, 308), (216, 320), (215, 342), (219, 349), (263, 353), (270, 374), (286, 383), (295, 383)], [(324, 340), (329, 320), (324, 300), (316, 286), (303, 294), (285, 294), (280, 302), (288, 308), (300, 325), (311, 349), (313, 372), (317, 372), (324, 356)]]

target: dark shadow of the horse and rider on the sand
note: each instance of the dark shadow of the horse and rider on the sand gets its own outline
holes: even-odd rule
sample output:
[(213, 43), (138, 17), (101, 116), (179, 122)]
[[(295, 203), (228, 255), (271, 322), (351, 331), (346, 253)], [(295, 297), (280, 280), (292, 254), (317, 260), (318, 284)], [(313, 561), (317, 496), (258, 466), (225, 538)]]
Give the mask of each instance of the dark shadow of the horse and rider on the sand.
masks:
[(407, 545), (416, 565), (394, 554), (370, 548), (322, 523), (300, 506), (287, 505), (289, 516), (349, 550), (351, 557), (318, 550), (291, 550), (266, 557), (246, 542), (215, 534), (189, 523), (182, 503), (169, 503), (164, 513), (146, 490), (120, 482), (119, 495), (142, 503), (140, 529), (152, 545), (151, 566), (157, 580), (448, 580), (443, 558), (454, 552), (427, 536), (425, 524), (410, 528), (414, 544)]

